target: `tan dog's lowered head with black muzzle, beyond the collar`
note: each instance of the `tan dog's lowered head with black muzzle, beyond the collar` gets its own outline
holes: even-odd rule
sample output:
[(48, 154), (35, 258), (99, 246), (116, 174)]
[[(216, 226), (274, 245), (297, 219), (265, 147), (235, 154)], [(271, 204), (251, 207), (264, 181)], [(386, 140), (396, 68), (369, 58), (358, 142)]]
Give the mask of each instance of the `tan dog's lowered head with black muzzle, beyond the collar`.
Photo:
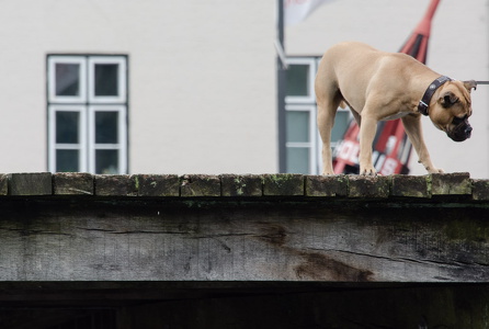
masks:
[(470, 91), (477, 88), (474, 80), (448, 81), (439, 89), (436, 104), (432, 104), (430, 118), (441, 131), (455, 141), (470, 138), (468, 117), (473, 114)]

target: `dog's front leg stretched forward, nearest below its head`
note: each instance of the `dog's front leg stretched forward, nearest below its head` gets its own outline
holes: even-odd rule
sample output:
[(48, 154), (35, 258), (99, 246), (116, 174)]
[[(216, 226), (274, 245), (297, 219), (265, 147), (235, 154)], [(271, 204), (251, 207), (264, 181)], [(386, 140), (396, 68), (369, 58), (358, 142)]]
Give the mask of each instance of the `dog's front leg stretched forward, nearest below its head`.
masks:
[(433, 162), (431, 162), (430, 154), (424, 144), (423, 131), (421, 128), (421, 114), (406, 115), (402, 117), (402, 124), (405, 125), (409, 140), (411, 140), (412, 146), (414, 146), (419, 162), (424, 166), (429, 173), (443, 172), (442, 169), (434, 167)]

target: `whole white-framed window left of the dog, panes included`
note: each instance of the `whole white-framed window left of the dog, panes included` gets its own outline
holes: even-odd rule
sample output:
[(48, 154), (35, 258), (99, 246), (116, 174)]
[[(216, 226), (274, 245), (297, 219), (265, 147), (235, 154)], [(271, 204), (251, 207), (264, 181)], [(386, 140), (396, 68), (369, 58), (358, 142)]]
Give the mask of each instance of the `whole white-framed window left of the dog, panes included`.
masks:
[(48, 168), (127, 172), (127, 57), (47, 57)]

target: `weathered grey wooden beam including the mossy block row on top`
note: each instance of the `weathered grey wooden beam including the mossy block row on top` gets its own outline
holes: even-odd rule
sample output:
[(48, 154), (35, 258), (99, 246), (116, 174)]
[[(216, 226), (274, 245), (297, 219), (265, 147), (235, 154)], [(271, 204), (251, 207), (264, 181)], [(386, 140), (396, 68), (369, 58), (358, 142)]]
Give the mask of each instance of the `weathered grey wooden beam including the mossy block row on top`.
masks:
[(45, 175), (0, 195), (0, 281), (489, 280), (488, 183), (466, 173)]

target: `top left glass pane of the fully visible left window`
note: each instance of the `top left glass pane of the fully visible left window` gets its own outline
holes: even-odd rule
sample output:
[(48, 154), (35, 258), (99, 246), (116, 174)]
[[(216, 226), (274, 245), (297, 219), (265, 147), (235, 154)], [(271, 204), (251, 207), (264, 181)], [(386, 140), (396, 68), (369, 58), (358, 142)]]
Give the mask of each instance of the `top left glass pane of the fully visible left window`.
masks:
[(80, 95), (80, 65), (58, 63), (55, 65), (56, 95)]

